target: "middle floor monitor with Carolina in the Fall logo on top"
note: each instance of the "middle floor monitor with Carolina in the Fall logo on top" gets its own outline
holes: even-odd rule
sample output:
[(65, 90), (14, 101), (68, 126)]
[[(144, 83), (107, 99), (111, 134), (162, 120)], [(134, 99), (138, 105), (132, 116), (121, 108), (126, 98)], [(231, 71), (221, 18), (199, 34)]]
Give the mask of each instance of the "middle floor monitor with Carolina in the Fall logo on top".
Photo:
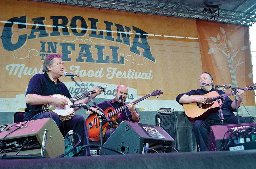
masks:
[[(162, 128), (149, 124), (123, 121), (103, 145), (124, 154), (170, 153), (173, 138)], [(147, 150), (150, 148), (149, 150)], [(152, 150), (154, 149), (154, 150)], [(100, 155), (118, 154), (104, 148)]]

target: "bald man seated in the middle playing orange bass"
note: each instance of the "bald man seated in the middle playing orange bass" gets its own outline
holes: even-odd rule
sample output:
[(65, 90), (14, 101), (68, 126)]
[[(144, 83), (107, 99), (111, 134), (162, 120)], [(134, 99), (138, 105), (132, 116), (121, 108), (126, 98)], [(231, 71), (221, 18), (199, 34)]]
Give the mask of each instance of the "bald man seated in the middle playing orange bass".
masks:
[[(105, 102), (102, 102), (100, 104), (98, 104), (99, 108), (101, 108), (103, 111), (105, 111), (106, 109), (108, 109), (109, 107), (112, 107), (114, 109), (118, 109), (120, 107), (123, 106), (123, 103), (122, 101), (119, 99), (120, 96), (122, 97), (123, 101), (125, 102), (126, 101), (126, 98), (127, 98), (127, 94), (128, 94), (128, 89), (125, 85), (123, 84), (120, 84), (118, 87), (117, 87), (117, 90), (116, 90), (116, 96), (113, 100), (110, 100), (110, 101), (105, 101)], [(135, 109), (134, 105), (132, 102), (130, 102), (128, 105), (127, 105), (127, 108), (128, 110), (126, 109), (127, 111), (127, 114), (128, 114), (128, 118), (130, 121), (133, 121), (133, 122), (139, 122), (139, 114), (137, 112), (137, 110)], [(99, 110), (96, 110), (95, 107), (92, 107), (92, 109), (94, 111), (96, 111), (97, 113), (99, 113)], [(89, 114), (87, 112), (87, 114)], [(92, 112), (90, 111), (90, 114), (92, 114)], [(116, 122), (118, 124), (120, 124), (122, 121), (126, 120), (126, 113), (125, 113), (125, 110), (123, 110), (120, 114), (119, 114), (119, 118), (116, 120)], [(112, 133), (114, 132), (115, 128), (111, 128), (112, 130)], [(90, 132), (90, 131), (89, 131)], [(103, 138), (103, 142), (106, 142), (106, 140), (108, 139), (108, 137), (111, 135), (110, 133), (110, 129), (107, 129), (106, 132), (105, 132), (105, 135), (104, 135), (104, 138)]]

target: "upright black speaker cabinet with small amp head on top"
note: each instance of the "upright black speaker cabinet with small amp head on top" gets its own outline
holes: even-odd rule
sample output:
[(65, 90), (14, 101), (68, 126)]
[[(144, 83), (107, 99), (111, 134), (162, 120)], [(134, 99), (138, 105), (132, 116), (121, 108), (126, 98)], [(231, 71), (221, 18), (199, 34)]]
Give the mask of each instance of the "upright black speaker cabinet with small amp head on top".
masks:
[(172, 147), (180, 151), (177, 116), (174, 113), (156, 114), (156, 126), (162, 127), (174, 139)]

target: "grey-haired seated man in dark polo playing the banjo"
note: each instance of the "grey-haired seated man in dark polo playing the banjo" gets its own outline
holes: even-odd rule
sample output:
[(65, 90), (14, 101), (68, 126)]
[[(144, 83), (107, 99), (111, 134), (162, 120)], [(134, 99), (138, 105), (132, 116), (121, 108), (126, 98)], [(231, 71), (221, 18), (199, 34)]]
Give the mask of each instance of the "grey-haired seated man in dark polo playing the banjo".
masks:
[[(24, 121), (27, 121), (32, 118), (41, 119), (52, 117), (56, 122), (57, 126), (61, 129), (61, 120), (57, 113), (44, 111), (42, 105), (44, 104), (53, 104), (59, 109), (64, 109), (68, 105), (68, 99), (71, 98), (71, 95), (59, 78), (63, 75), (64, 72), (64, 63), (62, 61), (62, 56), (60, 54), (50, 54), (48, 55), (43, 63), (43, 74), (34, 75), (28, 84), (28, 89), (26, 92), (26, 103), (27, 108), (25, 109)], [(91, 95), (92, 98), (96, 97), (101, 89), (94, 89), (95, 93)], [(67, 98), (57, 98), (50, 95), (60, 94), (64, 95)], [(84, 98), (78, 101), (75, 101), (74, 104), (78, 103), (88, 103), (88, 98)], [(79, 108), (76, 108), (76, 110)], [(44, 111), (44, 112), (43, 112)], [(40, 113), (42, 112), (42, 113)], [(40, 114), (39, 114), (40, 113)], [(85, 124), (85, 119), (83, 116), (73, 116), (71, 119), (66, 120), (63, 123), (65, 132), (73, 129), (74, 132), (78, 133), (82, 140), (80, 145), (87, 145), (87, 129)], [(66, 133), (63, 133), (64, 136)], [(76, 137), (75, 141), (77, 142)], [(78, 145), (78, 146), (80, 146)], [(82, 152), (81, 155), (89, 155), (90, 149), (87, 149), (87, 152)]]

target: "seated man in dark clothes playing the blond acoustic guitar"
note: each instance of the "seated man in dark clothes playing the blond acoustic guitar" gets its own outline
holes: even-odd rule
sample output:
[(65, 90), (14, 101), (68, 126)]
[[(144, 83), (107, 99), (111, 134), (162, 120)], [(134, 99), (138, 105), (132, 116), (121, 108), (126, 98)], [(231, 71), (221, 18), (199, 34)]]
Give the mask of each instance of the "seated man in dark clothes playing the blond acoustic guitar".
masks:
[[(217, 91), (219, 95), (224, 94), (221, 90), (216, 90), (212, 88), (211, 86), (204, 86), (202, 85), (202, 82), (205, 82), (207, 84), (213, 84), (213, 76), (210, 73), (203, 72), (201, 73), (199, 77), (199, 84), (201, 89), (192, 90), (187, 93), (182, 93), (177, 96), (176, 101), (180, 103), (181, 105), (188, 104), (188, 103), (206, 103), (206, 96), (198, 96), (198, 95), (205, 95), (212, 91)], [(244, 91), (243, 90), (236, 90), (237, 94), (237, 107), (240, 106), (241, 101), (244, 98)], [(193, 96), (197, 95), (197, 96)], [(233, 112), (236, 112), (235, 107), (235, 101), (232, 101), (229, 97), (225, 97), (221, 99), (222, 101), (222, 113), (224, 115), (224, 124), (235, 124), (237, 123), (237, 117), (234, 116)], [(217, 101), (216, 101), (217, 102)], [(201, 104), (198, 104), (200, 106)], [(218, 107), (217, 107), (218, 108)], [(185, 111), (186, 113), (186, 111)], [(239, 118), (240, 123), (245, 123), (244, 117)], [(218, 112), (218, 109), (215, 109), (215, 112), (211, 113), (209, 116), (207, 116), (205, 119), (196, 119), (194, 121), (193, 125), (193, 132), (196, 137), (196, 141), (199, 144), (200, 151), (208, 151), (208, 140), (209, 140), (209, 132), (210, 127), (212, 125), (220, 125), (220, 115)]]

